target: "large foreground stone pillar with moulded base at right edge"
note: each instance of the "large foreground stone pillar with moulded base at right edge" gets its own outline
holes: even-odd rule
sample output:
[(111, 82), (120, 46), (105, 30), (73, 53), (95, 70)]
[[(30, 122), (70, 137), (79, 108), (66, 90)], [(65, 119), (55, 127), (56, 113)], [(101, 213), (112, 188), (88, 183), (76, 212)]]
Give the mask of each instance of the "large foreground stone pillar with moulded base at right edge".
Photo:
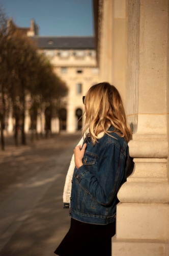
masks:
[(129, 1), (127, 112), (134, 173), (118, 193), (112, 256), (169, 255), (168, 1)]

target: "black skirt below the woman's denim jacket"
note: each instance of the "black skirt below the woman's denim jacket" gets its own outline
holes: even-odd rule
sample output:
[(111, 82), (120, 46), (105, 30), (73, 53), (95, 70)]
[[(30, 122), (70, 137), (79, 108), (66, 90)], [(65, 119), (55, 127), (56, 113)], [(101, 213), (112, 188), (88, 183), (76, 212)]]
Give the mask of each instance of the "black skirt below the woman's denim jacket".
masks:
[(111, 256), (111, 238), (115, 233), (116, 222), (97, 225), (71, 218), (70, 229), (54, 253), (60, 256)]

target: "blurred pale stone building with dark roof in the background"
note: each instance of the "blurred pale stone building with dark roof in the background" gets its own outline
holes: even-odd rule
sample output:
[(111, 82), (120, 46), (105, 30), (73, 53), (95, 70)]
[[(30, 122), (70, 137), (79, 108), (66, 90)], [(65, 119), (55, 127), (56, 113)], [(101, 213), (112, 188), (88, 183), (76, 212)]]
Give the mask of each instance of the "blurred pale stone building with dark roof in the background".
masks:
[[(8, 20), (8, 27), (13, 23)], [(60, 118), (51, 119), (51, 132), (65, 130), (73, 133), (80, 130), (85, 120), (78, 121), (84, 112), (82, 96), (95, 83), (98, 83), (98, 68), (96, 65), (96, 50), (93, 36), (39, 36), (39, 27), (32, 19), (30, 28), (18, 28), (35, 42), (40, 53), (47, 56), (53, 65), (55, 73), (66, 82), (68, 95), (64, 98), (65, 108), (60, 110)], [(45, 130), (45, 113), (37, 119), (37, 131)], [(29, 111), (25, 113), (25, 132), (30, 129)], [(10, 116), (8, 131), (13, 130), (13, 120)]]

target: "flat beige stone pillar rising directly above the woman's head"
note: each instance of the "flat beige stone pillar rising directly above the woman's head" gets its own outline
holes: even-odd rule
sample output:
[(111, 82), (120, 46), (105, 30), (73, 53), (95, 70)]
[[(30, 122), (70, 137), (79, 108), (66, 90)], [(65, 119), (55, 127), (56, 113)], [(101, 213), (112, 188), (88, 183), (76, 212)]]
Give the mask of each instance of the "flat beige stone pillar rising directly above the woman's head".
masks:
[(126, 97), (127, 3), (126, 0), (102, 0), (99, 15), (100, 82), (114, 84), (123, 99)]

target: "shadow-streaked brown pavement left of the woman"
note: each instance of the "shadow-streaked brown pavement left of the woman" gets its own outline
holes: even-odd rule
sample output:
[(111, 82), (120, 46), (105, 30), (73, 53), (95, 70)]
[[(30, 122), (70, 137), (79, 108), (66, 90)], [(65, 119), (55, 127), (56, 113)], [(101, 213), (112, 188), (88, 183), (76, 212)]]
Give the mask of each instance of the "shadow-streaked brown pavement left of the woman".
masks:
[(0, 152), (0, 255), (50, 256), (70, 227), (63, 188), (80, 134)]

